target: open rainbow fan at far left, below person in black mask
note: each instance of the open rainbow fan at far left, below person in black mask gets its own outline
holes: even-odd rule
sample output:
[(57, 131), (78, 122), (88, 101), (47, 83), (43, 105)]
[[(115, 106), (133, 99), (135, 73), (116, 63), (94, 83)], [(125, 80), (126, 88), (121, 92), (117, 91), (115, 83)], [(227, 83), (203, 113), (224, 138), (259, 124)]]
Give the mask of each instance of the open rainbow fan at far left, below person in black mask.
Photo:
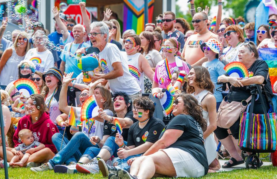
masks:
[(14, 81), (14, 86), (19, 93), (22, 93), (26, 97), (30, 97), (31, 94), (40, 94), (38, 86), (32, 80), (26, 78)]

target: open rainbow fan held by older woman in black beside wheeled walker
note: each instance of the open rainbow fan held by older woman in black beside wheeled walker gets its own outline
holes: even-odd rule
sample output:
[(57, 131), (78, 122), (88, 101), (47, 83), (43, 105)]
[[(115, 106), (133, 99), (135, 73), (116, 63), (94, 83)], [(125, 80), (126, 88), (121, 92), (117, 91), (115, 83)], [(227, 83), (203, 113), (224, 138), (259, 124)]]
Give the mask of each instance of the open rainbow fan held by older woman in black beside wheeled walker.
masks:
[(248, 78), (247, 68), (242, 62), (228, 63), (224, 67), (224, 70), (227, 72), (227, 74), (230, 77), (236, 77), (236, 78), (242, 78), (242, 79), (247, 79)]

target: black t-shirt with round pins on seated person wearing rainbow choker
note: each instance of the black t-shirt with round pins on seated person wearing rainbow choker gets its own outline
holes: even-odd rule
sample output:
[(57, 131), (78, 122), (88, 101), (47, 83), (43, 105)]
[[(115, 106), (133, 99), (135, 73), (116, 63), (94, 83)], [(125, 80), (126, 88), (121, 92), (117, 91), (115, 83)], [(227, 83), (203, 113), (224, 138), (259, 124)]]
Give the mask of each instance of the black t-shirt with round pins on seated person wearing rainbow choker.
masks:
[(142, 129), (137, 121), (129, 129), (127, 146), (135, 145), (137, 147), (145, 142), (155, 143), (163, 129), (164, 123), (156, 117), (151, 117)]

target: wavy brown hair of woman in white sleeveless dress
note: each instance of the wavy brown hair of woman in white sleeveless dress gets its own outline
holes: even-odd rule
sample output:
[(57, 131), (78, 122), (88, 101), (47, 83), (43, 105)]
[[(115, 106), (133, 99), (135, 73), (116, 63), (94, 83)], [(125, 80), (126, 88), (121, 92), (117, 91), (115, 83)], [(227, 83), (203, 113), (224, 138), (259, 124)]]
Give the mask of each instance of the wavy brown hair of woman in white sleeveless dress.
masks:
[[(194, 66), (191, 69), (194, 69), (195, 71), (195, 76), (196, 76), (195, 82), (197, 83), (197, 86), (201, 89), (206, 89), (212, 94), (214, 94), (214, 84), (211, 80), (211, 77), (207, 68), (203, 66)], [(194, 87), (188, 84), (187, 92), (188, 93), (195, 92)]]

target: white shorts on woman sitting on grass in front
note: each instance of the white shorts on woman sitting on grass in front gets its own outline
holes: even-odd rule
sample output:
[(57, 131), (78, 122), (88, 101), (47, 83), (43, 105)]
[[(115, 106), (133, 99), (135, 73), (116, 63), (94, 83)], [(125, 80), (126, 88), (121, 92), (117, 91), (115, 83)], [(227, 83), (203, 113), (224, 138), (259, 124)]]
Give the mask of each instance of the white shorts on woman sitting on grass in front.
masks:
[(190, 153), (179, 148), (160, 149), (164, 151), (175, 168), (177, 177), (200, 177), (205, 175), (205, 169)]

